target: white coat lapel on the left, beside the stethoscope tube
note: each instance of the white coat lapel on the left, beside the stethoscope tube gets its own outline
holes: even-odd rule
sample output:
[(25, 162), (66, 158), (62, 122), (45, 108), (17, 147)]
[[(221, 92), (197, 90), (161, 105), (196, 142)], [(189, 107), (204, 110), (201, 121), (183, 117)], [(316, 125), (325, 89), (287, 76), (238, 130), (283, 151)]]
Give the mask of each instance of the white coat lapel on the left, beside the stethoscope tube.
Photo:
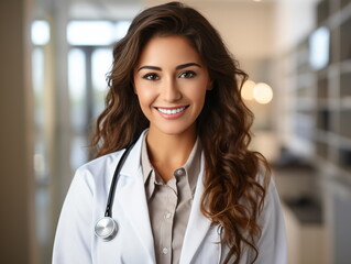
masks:
[[(143, 174), (140, 165), (142, 138), (143, 134), (125, 160), (120, 173), (120, 177), (125, 177), (125, 183), (116, 196), (125, 212), (125, 217), (133, 227), (135, 234), (144, 245), (151, 263), (155, 263), (154, 241), (145, 198)], [(145, 261), (145, 263), (149, 262)]]

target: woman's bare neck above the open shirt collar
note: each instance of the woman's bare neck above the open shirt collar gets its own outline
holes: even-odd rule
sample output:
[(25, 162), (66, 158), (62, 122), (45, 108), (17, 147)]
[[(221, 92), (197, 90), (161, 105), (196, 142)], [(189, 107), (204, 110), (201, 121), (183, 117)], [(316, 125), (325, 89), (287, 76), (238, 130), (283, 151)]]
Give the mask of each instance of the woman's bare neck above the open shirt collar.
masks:
[(177, 168), (188, 160), (196, 142), (196, 129), (189, 129), (182, 134), (160, 133), (150, 128), (146, 143), (151, 163), (154, 167), (166, 166)]

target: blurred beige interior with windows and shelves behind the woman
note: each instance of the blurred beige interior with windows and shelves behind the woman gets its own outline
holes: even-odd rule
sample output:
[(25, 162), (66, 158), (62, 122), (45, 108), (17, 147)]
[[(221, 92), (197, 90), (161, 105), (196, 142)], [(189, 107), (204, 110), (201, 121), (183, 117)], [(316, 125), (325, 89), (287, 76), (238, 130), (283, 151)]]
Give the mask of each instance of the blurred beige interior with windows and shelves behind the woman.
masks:
[[(165, 1), (1, 0), (0, 263), (51, 263), (90, 156), (113, 42)], [(351, 260), (351, 1), (189, 0), (249, 73), (251, 147), (273, 166), (290, 264)]]

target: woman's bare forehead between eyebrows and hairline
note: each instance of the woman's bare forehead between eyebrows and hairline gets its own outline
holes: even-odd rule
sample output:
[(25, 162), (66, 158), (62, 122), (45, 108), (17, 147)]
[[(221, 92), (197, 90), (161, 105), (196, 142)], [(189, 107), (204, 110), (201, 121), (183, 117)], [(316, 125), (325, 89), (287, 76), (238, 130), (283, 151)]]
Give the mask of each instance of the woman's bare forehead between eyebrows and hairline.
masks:
[(199, 53), (184, 36), (154, 36), (143, 47), (138, 65), (179, 65), (196, 62), (202, 64)]

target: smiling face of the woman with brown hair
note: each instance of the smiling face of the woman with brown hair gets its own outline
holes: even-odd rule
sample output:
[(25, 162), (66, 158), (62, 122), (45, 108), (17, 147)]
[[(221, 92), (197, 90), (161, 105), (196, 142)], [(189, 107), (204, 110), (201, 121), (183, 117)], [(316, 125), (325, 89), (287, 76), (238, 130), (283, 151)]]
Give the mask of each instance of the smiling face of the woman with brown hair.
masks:
[(196, 133), (211, 81), (197, 51), (183, 36), (155, 36), (134, 68), (134, 90), (150, 133)]

